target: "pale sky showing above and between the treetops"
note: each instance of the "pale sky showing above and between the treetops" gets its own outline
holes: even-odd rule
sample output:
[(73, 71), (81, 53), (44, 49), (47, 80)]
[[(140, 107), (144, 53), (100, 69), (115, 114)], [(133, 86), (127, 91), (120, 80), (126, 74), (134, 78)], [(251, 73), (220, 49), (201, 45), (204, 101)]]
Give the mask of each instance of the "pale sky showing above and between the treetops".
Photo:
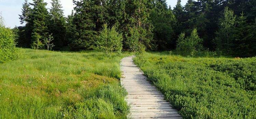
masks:
[[(28, 0), (32, 2), (32, 0)], [(47, 2), (47, 8), (51, 8), (51, 0), (44, 0)], [(168, 5), (174, 7), (177, 0), (166, 0)], [(4, 18), (4, 23), (6, 27), (14, 28), (15, 26), (23, 26), (19, 22), (19, 14), (21, 14), (22, 4), (24, 0), (0, 0), (0, 14)], [(68, 16), (73, 10), (72, 0), (60, 0), (64, 15)], [(182, 5), (185, 5), (187, 0), (181, 0)]]

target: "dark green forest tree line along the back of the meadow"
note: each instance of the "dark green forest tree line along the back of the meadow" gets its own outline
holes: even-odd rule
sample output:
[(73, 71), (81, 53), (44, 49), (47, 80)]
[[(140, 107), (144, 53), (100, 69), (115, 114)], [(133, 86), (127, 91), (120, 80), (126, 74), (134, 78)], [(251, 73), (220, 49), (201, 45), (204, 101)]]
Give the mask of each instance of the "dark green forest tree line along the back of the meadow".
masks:
[[(17, 45), (53, 50), (204, 51), (233, 56), (256, 55), (255, 0), (73, 1), (64, 17), (59, 0), (47, 10), (44, 0), (25, 0), (20, 16), (23, 27), (13, 29)], [(113, 45), (114, 44), (114, 45)], [(119, 44), (119, 45), (116, 45)]]

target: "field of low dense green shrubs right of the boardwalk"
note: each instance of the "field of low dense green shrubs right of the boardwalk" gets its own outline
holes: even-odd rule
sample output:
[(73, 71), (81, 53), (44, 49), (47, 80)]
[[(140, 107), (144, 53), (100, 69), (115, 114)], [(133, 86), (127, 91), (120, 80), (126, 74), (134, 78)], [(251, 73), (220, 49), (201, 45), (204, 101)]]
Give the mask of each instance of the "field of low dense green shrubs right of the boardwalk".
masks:
[(185, 119), (256, 119), (256, 57), (136, 57), (148, 79)]

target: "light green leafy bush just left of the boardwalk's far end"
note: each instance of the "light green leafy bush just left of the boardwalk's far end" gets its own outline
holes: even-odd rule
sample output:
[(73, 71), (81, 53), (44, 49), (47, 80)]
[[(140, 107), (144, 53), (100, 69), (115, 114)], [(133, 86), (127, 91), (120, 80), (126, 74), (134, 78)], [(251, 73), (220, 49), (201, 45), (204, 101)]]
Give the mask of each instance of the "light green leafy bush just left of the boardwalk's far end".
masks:
[(123, 37), (116, 31), (116, 27), (108, 28), (106, 24), (103, 26), (103, 30), (100, 32), (97, 41), (97, 49), (106, 54), (111, 52), (120, 53), (123, 49)]

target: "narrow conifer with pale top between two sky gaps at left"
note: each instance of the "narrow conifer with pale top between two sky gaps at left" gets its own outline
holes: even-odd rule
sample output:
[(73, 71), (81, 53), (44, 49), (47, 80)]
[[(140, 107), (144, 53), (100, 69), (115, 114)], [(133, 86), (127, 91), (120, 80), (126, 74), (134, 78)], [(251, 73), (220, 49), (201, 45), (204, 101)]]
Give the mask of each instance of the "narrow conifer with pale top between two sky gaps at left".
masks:
[(66, 40), (66, 21), (63, 15), (62, 6), (59, 0), (52, 0), (52, 7), (50, 9), (51, 20), (48, 28), (53, 34), (53, 44), (55, 49), (61, 49), (63, 46), (67, 46)]

